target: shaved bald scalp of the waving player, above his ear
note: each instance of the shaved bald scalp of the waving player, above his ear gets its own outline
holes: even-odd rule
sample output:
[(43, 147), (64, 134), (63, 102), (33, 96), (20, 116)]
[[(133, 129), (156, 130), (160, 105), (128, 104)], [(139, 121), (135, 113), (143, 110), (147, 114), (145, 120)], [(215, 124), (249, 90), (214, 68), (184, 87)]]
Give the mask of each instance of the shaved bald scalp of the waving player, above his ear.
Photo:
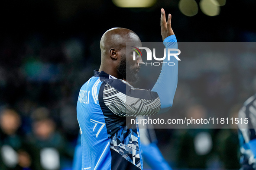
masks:
[(126, 42), (140, 42), (138, 35), (126, 28), (111, 28), (102, 35), (100, 40), (101, 60), (108, 57), (111, 49), (121, 50)]

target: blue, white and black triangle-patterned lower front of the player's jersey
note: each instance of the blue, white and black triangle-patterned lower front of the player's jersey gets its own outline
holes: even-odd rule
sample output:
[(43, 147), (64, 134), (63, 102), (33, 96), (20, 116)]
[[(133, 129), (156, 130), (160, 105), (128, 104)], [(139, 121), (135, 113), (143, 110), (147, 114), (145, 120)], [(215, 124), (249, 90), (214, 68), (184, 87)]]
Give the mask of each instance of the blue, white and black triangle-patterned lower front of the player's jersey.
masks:
[(127, 129), (126, 126), (122, 127), (111, 136), (110, 148), (141, 169), (136, 129)]

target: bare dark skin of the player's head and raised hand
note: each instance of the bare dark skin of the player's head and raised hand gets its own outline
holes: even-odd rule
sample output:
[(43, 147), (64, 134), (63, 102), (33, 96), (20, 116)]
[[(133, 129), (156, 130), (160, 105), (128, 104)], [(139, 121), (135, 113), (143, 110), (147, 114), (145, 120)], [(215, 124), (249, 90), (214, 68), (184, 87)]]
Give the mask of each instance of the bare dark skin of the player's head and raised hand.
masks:
[[(171, 26), (171, 14), (168, 15), (166, 21), (165, 10), (161, 9), (161, 35), (162, 39), (174, 35)], [(118, 66), (122, 58), (126, 57), (126, 62), (130, 68), (134, 70), (134, 73), (138, 73), (140, 66), (139, 62), (143, 62), (140, 56), (133, 60), (133, 51), (128, 51), (126, 56), (126, 42), (134, 42), (135, 47), (142, 47), (141, 41), (133, 31), (126, 28), (112, 28), (107, 30), (100, 40), (101, 50), (101, 64), (99, 72), (104, 71), (117, 79), (124, 79), (124, 77), (118, 72)]]

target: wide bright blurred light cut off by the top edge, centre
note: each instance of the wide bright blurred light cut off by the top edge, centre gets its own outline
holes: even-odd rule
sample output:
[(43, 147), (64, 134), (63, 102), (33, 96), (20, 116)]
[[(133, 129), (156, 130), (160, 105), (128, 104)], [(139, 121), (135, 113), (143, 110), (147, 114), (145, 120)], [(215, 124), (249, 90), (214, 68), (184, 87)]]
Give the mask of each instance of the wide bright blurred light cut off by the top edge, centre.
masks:
[(156, 3), (156, 0), (112, 0), (112, 2), (121, 8), (147, 8)]

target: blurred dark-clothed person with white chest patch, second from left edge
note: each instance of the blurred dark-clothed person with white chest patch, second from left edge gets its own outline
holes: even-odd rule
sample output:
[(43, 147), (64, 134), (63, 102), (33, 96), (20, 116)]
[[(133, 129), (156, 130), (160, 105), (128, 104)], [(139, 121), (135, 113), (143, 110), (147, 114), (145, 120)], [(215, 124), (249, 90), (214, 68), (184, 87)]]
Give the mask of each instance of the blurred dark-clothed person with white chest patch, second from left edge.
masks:
[(32, 134), (28, 135), (36, 170), (59, 170), (71, 167), (74, 147), (56, 129), (47, 108), (32, 113)]

